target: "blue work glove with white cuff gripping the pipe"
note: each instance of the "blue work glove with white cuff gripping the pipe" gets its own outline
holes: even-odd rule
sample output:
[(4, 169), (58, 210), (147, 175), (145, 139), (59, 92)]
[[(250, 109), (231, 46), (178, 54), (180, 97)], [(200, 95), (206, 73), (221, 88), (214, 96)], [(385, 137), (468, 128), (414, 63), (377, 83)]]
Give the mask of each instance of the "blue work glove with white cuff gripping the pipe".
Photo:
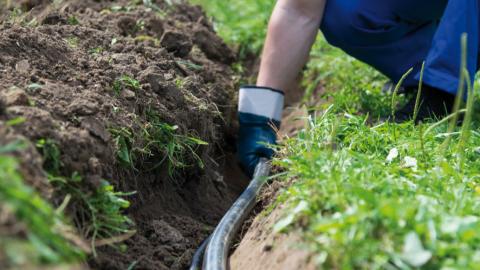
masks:
[(280, 128), (284, 96), (281, 91), (257, 86), (240, 88), (238, 99), (237, 155), (240, 165), (252, 177), (260, 158), (270, 159), (276, 143), (275, 129)]

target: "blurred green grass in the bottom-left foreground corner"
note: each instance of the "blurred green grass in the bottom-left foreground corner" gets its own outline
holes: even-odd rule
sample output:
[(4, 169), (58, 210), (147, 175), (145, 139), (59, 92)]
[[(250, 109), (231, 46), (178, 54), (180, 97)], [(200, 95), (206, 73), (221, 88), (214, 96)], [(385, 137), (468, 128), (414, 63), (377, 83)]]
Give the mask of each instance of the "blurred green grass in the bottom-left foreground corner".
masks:
[(6, 257), (2, 263), (33, 267), (83, 259), (83, 251), (67, 240), (65, 217), (23, 182), (18, 161), (7, 155), (21, 148), (21, 142), (0, 147), (0, 212), (12, 213), (26, 233), (23, 237), (0, 234), (0, 255)]

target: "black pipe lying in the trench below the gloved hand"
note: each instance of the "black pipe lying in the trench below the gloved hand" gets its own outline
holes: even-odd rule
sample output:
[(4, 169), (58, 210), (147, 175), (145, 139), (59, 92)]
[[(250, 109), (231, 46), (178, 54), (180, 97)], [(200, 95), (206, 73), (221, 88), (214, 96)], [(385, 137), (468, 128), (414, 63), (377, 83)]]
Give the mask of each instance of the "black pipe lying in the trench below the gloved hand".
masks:
[[(265, 183), (265, 177), (270, 173), (268, 160), (262, 158), (255, 168), (253, 179), (223, 216), (220, 223), (195, 252), (190, 270), (226, 270), (230, 245), (238, 230), (256, 203), (260, 188)], [(203, 255), (203, 265), (202, 265)]]

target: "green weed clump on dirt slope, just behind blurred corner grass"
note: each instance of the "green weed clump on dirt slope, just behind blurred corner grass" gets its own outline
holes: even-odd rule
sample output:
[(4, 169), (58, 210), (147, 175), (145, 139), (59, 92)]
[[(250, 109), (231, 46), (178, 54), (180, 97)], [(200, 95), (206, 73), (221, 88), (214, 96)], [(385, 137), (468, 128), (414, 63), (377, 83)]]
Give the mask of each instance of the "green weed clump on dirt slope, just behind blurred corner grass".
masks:
[(66, 209), (82, 236), (90, 241), (94, 255), (97, 240), (131, 232), (133, 222), (123, 213), (130, 203), (124, 197), (134, 192), (115, 191), (104, 179), (100, 187), (89, 190), (89, 185), (78, 173), (64, 176), (61, 150), (54, 140), (40, 139), (36, 146), (43, 156), (43, 168), (55, 188), (55, 197), (64, 198), (60, 208)]

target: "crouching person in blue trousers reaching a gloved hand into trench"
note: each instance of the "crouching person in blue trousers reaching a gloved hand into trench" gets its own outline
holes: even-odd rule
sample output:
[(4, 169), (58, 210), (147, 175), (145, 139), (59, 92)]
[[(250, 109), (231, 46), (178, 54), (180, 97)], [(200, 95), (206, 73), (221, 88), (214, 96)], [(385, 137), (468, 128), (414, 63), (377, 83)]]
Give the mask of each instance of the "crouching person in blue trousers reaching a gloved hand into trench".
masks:
[[(467, 69), (478, 67), (478, 0), (278, 0), (273, 10), (255, 86), (239, 92), (238, 158), (251, 176), (261, 157), (271, 158), (280, 127), (283, 91), (305, 64), (318, 29), (333, 46), (373, 66), (392, 82), (410, 68), (403, 86), (415, 89), (425, 62), (418, 119), (442, 118), (459, 83), (461, 36)], [(409, 120), (415, 98), (395, 118)]]

